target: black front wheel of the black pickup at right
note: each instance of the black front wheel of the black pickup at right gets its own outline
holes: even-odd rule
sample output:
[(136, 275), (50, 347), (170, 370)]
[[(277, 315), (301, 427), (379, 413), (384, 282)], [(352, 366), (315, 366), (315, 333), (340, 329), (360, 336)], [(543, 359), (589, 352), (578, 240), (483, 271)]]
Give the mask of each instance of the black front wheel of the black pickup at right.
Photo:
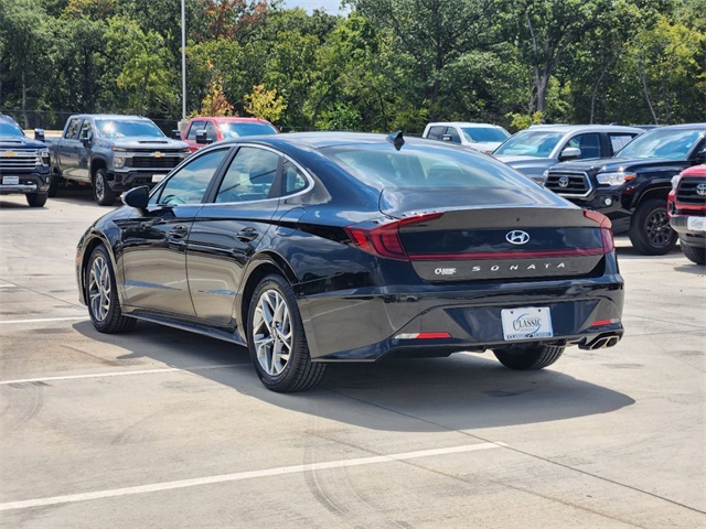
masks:
[(628, 231), (632, 246), (643, 256), (663, 256), (676, 246), (676, 231), (670, 226), (666, 201), (642, 202), (630, 220)]

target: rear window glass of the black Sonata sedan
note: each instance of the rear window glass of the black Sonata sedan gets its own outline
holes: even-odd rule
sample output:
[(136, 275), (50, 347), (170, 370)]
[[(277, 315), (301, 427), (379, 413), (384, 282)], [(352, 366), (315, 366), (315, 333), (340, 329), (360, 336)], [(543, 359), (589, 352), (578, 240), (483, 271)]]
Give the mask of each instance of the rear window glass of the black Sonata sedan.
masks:
[(429, 145), (342, 145), (321, 153), (344, 171), (376, 187), (464, 190), (532, 185), (504, 163), (490, 156)]

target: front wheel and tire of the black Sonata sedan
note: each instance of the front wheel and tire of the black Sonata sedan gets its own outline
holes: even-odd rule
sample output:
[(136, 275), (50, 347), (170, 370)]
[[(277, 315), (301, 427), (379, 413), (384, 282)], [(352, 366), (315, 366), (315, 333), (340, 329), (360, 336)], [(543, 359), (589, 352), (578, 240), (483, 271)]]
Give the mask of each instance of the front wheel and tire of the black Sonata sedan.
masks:
[(128, 332), (135, 326), (135, 319), (122, 315), (113, 261), (103, 245), (90, 253), (85, 288), (88, 315), (96, 331), (116, 334)]

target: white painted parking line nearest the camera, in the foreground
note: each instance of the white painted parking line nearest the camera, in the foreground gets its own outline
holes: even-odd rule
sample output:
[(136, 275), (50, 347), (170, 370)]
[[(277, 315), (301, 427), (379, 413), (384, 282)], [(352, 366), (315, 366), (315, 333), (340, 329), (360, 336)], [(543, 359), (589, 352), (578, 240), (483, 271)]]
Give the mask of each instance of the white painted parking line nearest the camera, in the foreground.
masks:
[(26, 499), (23, 501), (8, 501), (0, 504), (0, 511), (31, 509), (33, 507), (47, 507), (52, 505), (72, 504), (76, 501), (88, 501), (92, 499), (115, 498), (119, 496), (130, 496), (135, 494), (159, 493), (162, 490), (173, 490), (176, 488), (197, 487), (201, 485), (213, 485), (216, 483), (240, 482), (244, 479), (255, 479), (258, 477), (284, 476), (287, 474), (299, 474), (303, 472), (323, 471), (329, 468), (343, 468), (349, 466), (374, 465), (377, 463), (391, 463), (395, 461), (416, 460), (419, 457), (430, 457), (434, 455), (459, 454), (463, 452), (475, 452), (480, 450), (491, 450), (506, 447), (505, 443), (477, 443), (462, 446), (450, 446), (447, 449), (422, 450), (419, 452), (404, 452), (399, 454), (374, 455), (371, 457), (359, 457), (354, 460), (330, 461), (327, 463), (309, 463), (303, 465), (280, 466), (278, 468), (266, 468), (261, 471), (236, 472), (234, 474), (222, 474), (217, 476), (196, 477), (193, 479), (179, 479), (175, 482), (152, 483), (136, 487), (114, 488), (108, 490), (96, 490), (93, 493), (68, 494), (65, 496), (53, 496), (49, 498)]

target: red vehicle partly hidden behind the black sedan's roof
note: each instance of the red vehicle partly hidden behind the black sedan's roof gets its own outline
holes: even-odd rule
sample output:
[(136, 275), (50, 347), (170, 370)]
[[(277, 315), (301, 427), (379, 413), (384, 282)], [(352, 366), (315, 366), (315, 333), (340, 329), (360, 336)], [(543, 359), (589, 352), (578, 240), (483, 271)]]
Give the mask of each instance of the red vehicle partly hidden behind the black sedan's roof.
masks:
[(276, 134), (278, 130), (272, 123), (259, 118), (239, 117), (199, 117), (186, 123), (183, 140), (194, 153), (210, 143), (232, 140), (242, 136)]

